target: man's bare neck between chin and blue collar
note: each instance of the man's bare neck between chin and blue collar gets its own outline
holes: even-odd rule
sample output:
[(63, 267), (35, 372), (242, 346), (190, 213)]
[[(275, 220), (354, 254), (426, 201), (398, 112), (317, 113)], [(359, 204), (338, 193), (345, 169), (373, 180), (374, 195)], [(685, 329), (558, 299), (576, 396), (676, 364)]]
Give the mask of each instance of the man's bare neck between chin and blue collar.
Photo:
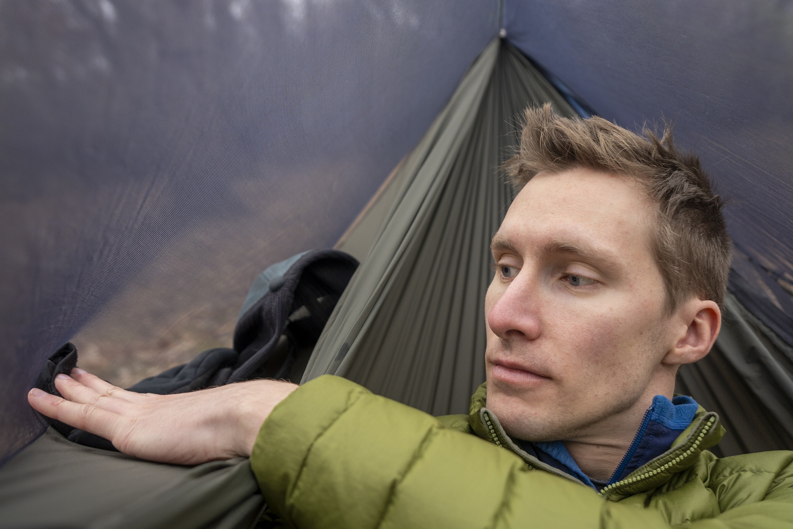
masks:
[(600, 421), (575, 439), (564, 440), (580, 470), (596, 481), (607, 481), (630, 448), (653, 397), (665, 393), (668, 392), (648, 388), (630, 408)]

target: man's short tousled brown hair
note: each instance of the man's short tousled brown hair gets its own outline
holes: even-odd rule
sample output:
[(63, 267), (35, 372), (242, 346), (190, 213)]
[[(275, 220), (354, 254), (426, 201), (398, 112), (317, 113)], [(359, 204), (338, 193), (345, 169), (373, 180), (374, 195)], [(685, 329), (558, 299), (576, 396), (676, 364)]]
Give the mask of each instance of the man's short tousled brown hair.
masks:
[(619, 174), (639, 182), (658, 205), (655, 257), (672, 312), (691, 296), (722, 305), (732, 243), (699, 158), (676, 150), (672, 128), (642, 136), (601, 117), (557, 116), (550, 104), (526, 110), (519, 151), (505, 164), (516, 190), (541, 171), (574, 167)]

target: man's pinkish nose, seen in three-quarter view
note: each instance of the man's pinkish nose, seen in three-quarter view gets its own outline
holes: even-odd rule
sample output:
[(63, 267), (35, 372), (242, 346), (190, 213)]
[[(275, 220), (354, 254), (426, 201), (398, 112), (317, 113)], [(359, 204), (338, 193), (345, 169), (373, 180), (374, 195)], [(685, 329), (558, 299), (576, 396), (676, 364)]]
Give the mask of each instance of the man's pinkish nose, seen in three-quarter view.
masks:
[(540, 335), (538, 294), (536, 282), (518, 274), (488, 313), (492, 332), (503, 340), (537, 339)]

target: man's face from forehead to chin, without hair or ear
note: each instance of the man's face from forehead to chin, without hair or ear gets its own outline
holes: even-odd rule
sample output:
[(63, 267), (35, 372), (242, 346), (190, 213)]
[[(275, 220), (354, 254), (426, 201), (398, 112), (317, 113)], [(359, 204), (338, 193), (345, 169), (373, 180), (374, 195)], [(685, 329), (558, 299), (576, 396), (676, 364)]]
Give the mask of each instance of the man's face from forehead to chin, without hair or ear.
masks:
[(653, 211), (634, 182), (588, 169), (540, 173), (515, 198), (485, 297), (487, 405), (511, 435), (577, 439), (646, 392), (669, 349)]

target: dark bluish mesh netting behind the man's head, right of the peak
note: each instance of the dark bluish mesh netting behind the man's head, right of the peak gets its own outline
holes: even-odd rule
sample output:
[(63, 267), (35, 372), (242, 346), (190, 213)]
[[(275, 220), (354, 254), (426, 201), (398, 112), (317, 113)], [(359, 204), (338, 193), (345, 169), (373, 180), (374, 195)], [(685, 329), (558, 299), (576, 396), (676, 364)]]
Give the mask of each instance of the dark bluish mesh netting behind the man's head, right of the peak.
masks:
[(777, 313), (753, 312), (793, 344), (791, 2), (508, 1), (504, 27), (602, 117), (675, 125), (734, 199), (734, 271)]

